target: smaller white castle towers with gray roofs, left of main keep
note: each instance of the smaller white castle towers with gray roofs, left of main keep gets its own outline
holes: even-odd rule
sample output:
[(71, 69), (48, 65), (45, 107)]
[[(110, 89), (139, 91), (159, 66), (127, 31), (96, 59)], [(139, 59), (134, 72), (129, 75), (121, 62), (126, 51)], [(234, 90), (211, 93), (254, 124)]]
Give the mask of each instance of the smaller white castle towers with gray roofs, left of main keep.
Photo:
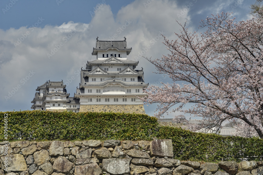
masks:
[(66, 85), (62, 81), (47, 81), (36, 89), (31, 109), (46, 111), (71, 110), (79, 112), (79, 101), (73, 100), (67, 93)]

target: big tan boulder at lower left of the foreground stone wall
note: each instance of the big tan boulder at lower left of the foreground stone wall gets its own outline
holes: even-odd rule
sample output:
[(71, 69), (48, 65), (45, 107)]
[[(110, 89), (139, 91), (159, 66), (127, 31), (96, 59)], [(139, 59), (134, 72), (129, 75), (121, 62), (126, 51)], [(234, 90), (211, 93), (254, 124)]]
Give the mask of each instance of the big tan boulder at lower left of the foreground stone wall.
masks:
[(27, 164), (26, 160), (24, 159), (24, 156), (21, 154), (13, 154), (13, 155), (6, 155), (4, 157), (1, 157), (2, 161), (6, 160), (5, 157), (7, 157), (7, 166), (8, 171), (26, 171), (27, 170)]

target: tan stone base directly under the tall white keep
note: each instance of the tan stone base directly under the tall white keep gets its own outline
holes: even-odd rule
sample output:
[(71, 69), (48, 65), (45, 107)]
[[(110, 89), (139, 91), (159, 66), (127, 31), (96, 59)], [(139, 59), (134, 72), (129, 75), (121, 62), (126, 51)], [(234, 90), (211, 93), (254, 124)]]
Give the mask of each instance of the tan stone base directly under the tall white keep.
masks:
[(125, 112), (146, 114), (143, 104), (136, 105), (80, 105), (79, 112)]

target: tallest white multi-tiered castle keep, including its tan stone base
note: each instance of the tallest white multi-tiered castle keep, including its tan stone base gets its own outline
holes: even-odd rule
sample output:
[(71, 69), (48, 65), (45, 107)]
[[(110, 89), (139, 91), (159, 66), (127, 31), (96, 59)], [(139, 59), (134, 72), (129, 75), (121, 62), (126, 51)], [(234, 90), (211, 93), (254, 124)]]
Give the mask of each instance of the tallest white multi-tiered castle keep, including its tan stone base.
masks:
[[(124, 37), (125, 38), (125, 37)], [(127, 59), (131, 48), (123, 41), (100, 41), (97, 38), (86, 70), (81, 70), (80, 84), (74, 99), (80, 102), (80, 112), (144, 113), (143, 102), (137, 97), (146, 95), (143, 70), (135, 70), (138, 61)]]

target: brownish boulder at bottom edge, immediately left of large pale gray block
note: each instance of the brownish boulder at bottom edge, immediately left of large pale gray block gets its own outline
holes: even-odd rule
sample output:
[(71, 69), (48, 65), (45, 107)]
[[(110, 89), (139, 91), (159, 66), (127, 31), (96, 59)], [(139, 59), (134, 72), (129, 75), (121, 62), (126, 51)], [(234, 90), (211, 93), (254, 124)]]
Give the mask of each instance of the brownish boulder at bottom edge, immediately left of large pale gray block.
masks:
[(75, 166), (74, 175), (100, 175), (102, 171), (97, 163)]

